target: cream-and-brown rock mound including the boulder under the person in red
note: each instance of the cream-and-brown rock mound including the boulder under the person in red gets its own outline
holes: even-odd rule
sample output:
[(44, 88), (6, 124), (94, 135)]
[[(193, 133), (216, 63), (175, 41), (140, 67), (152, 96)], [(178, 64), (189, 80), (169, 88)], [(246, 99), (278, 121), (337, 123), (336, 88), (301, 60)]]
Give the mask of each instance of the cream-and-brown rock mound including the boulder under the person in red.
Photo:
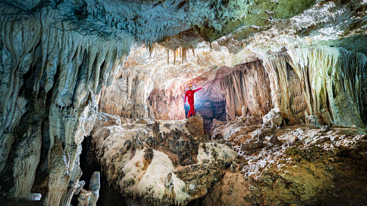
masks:
[(226, 145), (198, 142), (202, 124), (198, 115), (95, 128), (94, 154), (109, 184), (130, 202), (185, 205), (206, 195), (237, 157)]

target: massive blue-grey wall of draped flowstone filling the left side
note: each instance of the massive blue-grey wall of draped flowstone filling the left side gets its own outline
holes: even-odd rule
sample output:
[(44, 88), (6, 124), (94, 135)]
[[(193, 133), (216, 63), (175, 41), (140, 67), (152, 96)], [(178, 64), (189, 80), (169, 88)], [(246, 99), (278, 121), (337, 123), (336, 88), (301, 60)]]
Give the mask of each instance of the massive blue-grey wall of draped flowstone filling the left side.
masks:
[(72, 21), (59, 21), (56, 7), (30, 15), (1, 2), (0, 16), (1, 192), (17, 199), (40, 193), (44, 205), (68, 205), (81, 187), (81, 141), (102, 87), (134, 40), (76, 32)]

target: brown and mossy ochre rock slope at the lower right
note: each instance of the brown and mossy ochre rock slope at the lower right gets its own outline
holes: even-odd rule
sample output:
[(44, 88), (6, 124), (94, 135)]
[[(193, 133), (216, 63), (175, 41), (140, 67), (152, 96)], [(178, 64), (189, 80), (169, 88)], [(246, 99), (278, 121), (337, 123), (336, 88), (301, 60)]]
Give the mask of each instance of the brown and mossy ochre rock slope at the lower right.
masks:
[[(346, 131), (344, 128), (335, 128), (327, 136), (337, 136), (339, 140), (319, 143), (314, 140), (318, 131), (304, 129), (301, 139), (305, 143), (298, 141), (295, 144), (291, 143), (295, 134), (288, 131), (279, 137), (287, 141), (282, 146), (254, 149), (252, 155), (244, 156), (247, 163), (243, 165), (243, 174), (226, 173), (212, 187), (205, 197), (205, 203), (363, 204), (366, 198), (360, 195), (367, 191), (364, 184), (366, 172), (360, 170), (360, 166), (366, 165), (367, 136), (355, 135), (362, 132), (358, 129)], [(364, 152), (355, 152), (360, 150)], [(343, 179), (339, 179), (340, 176)], [(346, 181), (353, 182), (353, 192), (350, 192), (350, 185), (345, 185)], [(274, 187), (277, 189), (273, 190)], [(330, 199), (333, 195), (338, 198)], [(233, 198), (238, 201), (233, 202)]]

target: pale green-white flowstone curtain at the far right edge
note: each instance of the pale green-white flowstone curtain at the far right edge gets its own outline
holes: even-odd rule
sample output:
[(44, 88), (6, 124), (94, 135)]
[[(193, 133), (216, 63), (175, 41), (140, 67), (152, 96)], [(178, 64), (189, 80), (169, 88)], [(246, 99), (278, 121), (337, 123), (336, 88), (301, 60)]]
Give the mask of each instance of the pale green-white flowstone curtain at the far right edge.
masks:
[(366, 103), (360, 90), (366, 82), (364, 54), (327, 46), (289, 49), (288, 54), (295, 73), (310, 91), (305, 96), (311, 114), (335, 125), (364, 125), (361, 115)]

